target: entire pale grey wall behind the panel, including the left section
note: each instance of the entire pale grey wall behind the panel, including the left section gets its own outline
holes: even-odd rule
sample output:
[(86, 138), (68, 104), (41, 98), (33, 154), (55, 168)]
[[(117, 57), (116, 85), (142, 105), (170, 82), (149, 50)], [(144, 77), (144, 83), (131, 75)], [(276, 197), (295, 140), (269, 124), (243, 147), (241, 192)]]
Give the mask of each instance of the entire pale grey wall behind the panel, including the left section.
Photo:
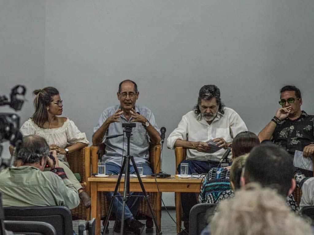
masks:
[[(5, 42), (0, 76), (1, 84), (3, 79), (8, 84), (1, 85), (1, 94), (18, 82), (29, 92), (57, 87), (64, 115), (89, 139), (102, 110), (117, 103), (117, 86), (127, 78), (138, 83), (138, 104), (153, 110), (166, 136), (192, 109), (204, 84), (219, 86), (226, 106), (255, 133), (279, 108), (279, 88), (288, 83), (299, 86), (303, 109), (314, 114), (312, 0), (0, 4)], [(24, 120), (32, 113), (33, 98), (28, 99)], [(174, 174), (174, 159), (174, 152), (165, 149), (163, 170)], [(173, 194), (163, 197), (174, 205)]]

